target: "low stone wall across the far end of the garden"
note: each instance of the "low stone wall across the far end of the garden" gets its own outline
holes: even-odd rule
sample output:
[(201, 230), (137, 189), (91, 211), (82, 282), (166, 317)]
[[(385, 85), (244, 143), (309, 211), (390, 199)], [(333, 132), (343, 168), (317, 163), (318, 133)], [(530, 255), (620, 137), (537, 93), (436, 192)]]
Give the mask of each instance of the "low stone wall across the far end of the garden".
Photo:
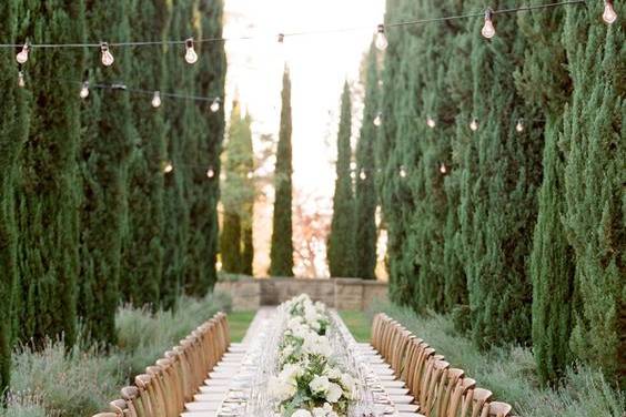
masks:
[(255, 311), (262, 305), (279, 305), (302, 293), (337, 309), (363, 311), (374, 299), (387, 298), (387, 284), (359, 278), (271, 278), (222, 281), (215, 291), (229, 293), (233, 309)]

